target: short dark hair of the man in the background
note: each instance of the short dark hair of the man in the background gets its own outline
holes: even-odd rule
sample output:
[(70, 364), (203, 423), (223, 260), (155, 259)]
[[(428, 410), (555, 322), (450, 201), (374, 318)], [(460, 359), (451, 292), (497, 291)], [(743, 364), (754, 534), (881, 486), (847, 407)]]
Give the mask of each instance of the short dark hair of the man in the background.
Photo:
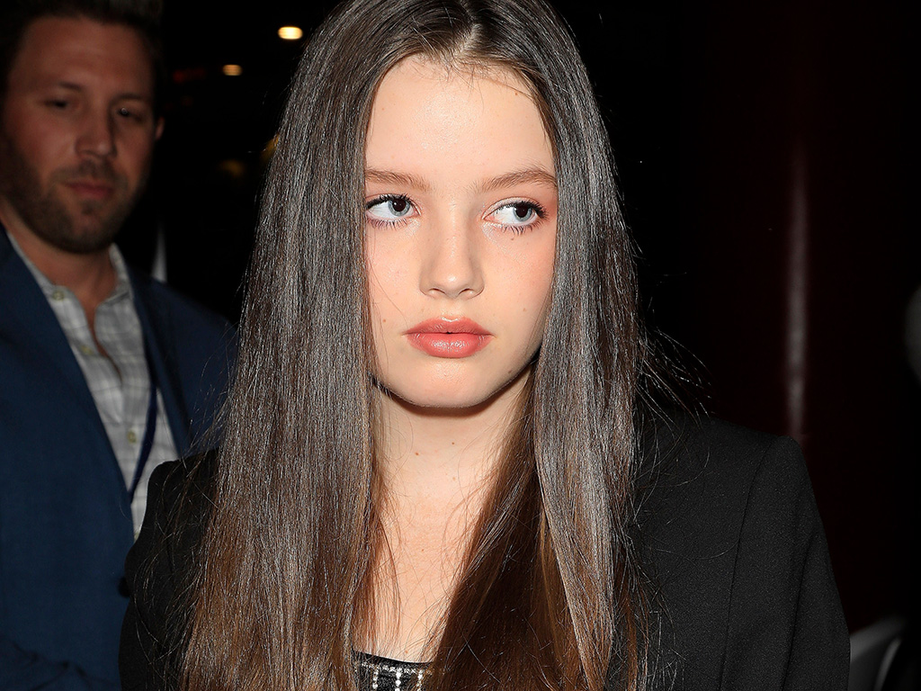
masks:
[(161, 0), (4, 0), (0, 9), (0, 103), (6, 98), (13, 69), (26, 31), (42, 18), (87, 18), (99, 24), (134, 29), (144, 42), (154, 77), (154, 111), (161, 111), (167, 85), (160, 38)]

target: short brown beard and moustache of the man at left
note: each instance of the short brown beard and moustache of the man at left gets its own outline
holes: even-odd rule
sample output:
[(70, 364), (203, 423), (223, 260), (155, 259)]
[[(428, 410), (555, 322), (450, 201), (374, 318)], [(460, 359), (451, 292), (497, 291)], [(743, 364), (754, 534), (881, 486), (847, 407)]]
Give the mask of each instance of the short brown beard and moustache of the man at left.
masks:
[[(112, 193), (104, 200), (84, 199), (75, 209), (64, 203), (57, 188), (76, 180), (109, 184)], [(129, 190), (127, 180), (105, 158), (84, 159), (73, 168), (54, 170), (42, 187), (38, 171), (16, 143), (0, 132), (0, 193), (32, 233), (64, 252), (92, 254), (109, 247), (143, 189), (141, 184)]]

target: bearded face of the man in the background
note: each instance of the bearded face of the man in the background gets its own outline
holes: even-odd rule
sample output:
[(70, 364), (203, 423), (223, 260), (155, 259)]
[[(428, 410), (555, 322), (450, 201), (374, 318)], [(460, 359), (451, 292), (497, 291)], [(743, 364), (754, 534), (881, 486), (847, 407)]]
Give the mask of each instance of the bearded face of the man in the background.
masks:
[(106, 248), (144, 189), (162, 123), (140, 35), (85, 18), (27, 29), (0, 111), (0, 211), (64, 252)]

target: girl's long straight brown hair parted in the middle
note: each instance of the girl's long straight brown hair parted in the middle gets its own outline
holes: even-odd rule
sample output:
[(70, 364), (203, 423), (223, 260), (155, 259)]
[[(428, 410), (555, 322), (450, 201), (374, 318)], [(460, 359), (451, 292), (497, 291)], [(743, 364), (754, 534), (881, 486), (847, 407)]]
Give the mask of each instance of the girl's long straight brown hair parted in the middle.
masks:
[[(317, 30), (262, 200), (182, 686), (354, 689), (375, 521), (364, 149), (411, 55), (514, 71), (554, 146), (557, 249), (540, 353), (449, 603), (431, 689), (644, 683), (628, 538), (642, 368), (607, 135), (542, 0), (356, 0)], [(365, 604), (363, 604), (365, 603)]]

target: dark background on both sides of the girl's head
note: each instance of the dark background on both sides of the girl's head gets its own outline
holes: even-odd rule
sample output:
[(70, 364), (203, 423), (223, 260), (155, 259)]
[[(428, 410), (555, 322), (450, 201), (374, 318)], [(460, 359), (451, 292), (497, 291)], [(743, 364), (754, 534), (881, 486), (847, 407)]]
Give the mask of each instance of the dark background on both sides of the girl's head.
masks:
[[(169, 282), (231, 319), (304, 44), (276, 30), (306, 40), (330, 6), (166, 3), (167, 129), (122, 246), (149, 263), (162, 228)], [(559, 5), (611, 132), (647, 319), (680, 344), (708, 410), (802, 444), (852, 630), (915, 615), (908, 6)]]

